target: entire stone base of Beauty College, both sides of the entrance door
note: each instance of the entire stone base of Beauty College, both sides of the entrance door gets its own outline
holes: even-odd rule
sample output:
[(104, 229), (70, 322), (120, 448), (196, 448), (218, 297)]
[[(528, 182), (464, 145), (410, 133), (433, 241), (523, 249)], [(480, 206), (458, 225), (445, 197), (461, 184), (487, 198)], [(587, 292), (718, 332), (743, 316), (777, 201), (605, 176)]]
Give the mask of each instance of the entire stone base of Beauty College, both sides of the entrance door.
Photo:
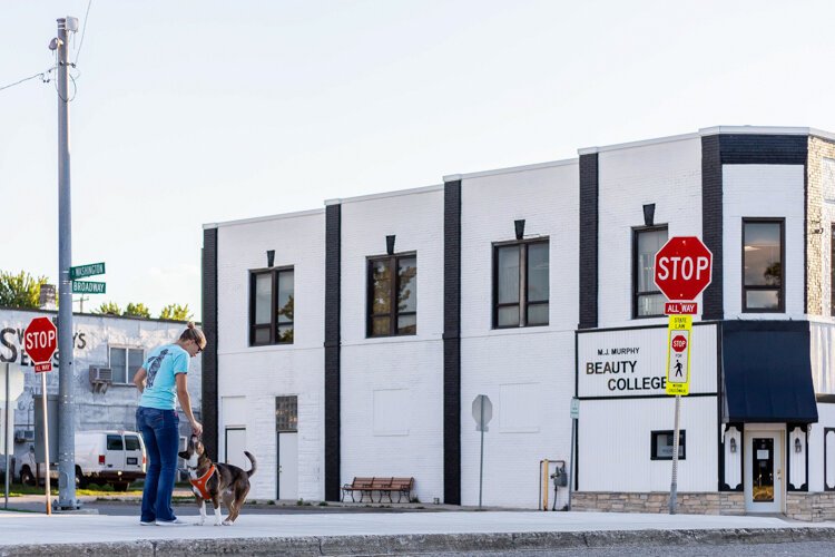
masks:
[[(669, 494), (622, 494), (580, 491), (571, 494), (571, 510), (612, 512), (667, 512)], [(678, 494), (676, 511), (681, 515), (745, 515), (745, 496), (740, 491)], [(835, 491), (789, 491), (786, 516), (818, 522), (835, 520)]]

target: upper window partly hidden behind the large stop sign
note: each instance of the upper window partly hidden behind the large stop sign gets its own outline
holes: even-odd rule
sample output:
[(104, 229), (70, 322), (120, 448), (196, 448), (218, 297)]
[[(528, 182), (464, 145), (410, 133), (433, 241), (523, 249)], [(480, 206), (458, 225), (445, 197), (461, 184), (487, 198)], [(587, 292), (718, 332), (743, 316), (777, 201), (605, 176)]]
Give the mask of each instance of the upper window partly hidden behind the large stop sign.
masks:
[(664, 294), (655, 282), (656, 254), (667, 243), (667, 227), (635, 228), (632, 236), (632, 316), (664, 315)]

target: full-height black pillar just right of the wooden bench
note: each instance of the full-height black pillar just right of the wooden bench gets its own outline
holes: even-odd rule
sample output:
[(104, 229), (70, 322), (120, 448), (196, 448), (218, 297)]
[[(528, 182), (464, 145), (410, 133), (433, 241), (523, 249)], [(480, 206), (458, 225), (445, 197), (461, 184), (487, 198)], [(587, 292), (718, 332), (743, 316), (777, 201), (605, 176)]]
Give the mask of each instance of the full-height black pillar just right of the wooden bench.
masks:
[(444, 184), (443, 501), (461, 505), (461, 180)]

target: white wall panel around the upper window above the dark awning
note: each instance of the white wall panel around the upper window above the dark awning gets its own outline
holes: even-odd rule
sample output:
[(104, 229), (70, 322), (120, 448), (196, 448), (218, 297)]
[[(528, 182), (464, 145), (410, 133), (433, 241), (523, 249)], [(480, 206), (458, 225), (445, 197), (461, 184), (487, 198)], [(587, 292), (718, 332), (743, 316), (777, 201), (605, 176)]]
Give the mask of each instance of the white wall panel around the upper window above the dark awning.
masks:
[[(805, 319), (803, 165), (723, 165), (725, 319)], [(780, 217), (785, 224), (785, 313), (743, 313), (743, 218)], [(828, 282), (826, 283), (828, 284)]]

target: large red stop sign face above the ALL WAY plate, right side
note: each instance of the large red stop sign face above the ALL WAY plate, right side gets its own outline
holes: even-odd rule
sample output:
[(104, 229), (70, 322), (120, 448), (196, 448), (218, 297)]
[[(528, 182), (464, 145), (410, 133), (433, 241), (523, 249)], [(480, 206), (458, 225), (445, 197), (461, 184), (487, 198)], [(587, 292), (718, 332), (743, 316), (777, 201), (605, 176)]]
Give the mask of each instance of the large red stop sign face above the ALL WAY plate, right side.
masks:
[(710, 284), (713, 261), (696, 236), (671, 237), (656, 254), (656, 285), (668, 300), (696, 300)]

